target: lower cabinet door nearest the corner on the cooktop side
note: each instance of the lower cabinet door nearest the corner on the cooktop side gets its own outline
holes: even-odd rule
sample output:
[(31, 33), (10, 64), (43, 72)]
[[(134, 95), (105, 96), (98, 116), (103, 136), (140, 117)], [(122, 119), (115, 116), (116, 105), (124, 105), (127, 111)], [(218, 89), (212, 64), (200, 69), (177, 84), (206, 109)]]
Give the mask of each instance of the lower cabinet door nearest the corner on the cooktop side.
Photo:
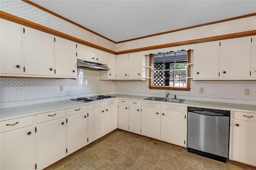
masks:
[(105, 108), (105, 134), (117, 128), (117, 105)]

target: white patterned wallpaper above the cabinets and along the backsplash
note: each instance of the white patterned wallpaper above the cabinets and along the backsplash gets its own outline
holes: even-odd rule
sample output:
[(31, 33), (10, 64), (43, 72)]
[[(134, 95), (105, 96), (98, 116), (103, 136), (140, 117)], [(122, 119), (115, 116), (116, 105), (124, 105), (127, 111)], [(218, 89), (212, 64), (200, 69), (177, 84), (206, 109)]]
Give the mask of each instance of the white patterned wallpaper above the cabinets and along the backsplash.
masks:
[[(252, 16), (116, 45), (20, 0), (1, 0), (0, 10), (113, 51), (256, 30), (256, 16)], [(60, 85), (63, 85), (63, 91), (59, 91)], [(204, 88), (204, 93), (199, 93), (199, 87)], [(244, 96), (244, 89), (250, 89), (249, 96)], [(153, 94), (166, 92), (148, 89), (148, 81), (100, 81), (99, 92), (109, 91)], [(169, 92), (171, 95), (255, 101), (256, 81), (191, 81), (191, 91)], [(0, 77), (0, 95), (1, 103), (68, 96), (68, 79)]]

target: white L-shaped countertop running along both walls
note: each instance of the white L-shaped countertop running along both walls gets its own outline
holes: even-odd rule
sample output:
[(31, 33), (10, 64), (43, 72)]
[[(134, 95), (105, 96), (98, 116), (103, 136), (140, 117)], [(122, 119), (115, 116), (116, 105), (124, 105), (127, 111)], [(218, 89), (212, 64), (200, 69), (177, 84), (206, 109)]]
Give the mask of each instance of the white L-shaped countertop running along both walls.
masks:
[[(139, 96), (139, 95), (121, 95), (121, 94), (111, 94), (122, 99), (130, 100), (143, 100), (148, 98), (148, 96)], [(112, 98), (113, 99), (113, 98)], [(108, 99), (106, 99), (108, 100)], [(104, 100), (104, 101), (106, 101)], [(110, 99), (109, 99), (110, 100)], [(101, 100), (102, 101), (102, 100)], [(146, 100), (144, 100), (146, 101)], [(99, 102), (99, 101), (95, 101)], [(154, 103), (169, 103), (161, 101), (147, 101)], [(90, 103), (72, 101), (72, 100), (63, 100), (63, 101), (54, 101), (48, 103), (40, 103), (34, 105), (24, 105), (18, 107), (8, 107), (0, 109), (0, 121), (5, 121), (9, 119), (15, 119), (19, 117), (26, 117), (30, 115), (37, 115), (40, 113), (46, 113), (51, 111), (57, 111), (61, 109), (68, 109), (71, 107), (88, 105)], [(246, 105), (246, 104), (235, 104), (235, 103), (220, 103), (220, 102), (210, 102), (210, 101), (198, 101), (198, 100), (185, 100), (184, 103), (170, 103), (174, 105), (184, 105), (189, 107), (202, 107), (208, 109), (222, 109), (230, 111), (241, 111), (241, 112), (250, 112), (256, 113), (256, 105)]]

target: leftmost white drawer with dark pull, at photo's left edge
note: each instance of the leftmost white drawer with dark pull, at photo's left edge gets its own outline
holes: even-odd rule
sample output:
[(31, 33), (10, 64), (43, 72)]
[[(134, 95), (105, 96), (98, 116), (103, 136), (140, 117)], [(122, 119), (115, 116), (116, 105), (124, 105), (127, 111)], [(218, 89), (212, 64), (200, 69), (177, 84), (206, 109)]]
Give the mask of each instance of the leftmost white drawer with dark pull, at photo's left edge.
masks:
[(31, 125), (33, 125), (33, 116), (2, 121), (0, 122), (0, 132), (7, 132), (9, 130), (14, 130), (17, 128), (27, 127)]

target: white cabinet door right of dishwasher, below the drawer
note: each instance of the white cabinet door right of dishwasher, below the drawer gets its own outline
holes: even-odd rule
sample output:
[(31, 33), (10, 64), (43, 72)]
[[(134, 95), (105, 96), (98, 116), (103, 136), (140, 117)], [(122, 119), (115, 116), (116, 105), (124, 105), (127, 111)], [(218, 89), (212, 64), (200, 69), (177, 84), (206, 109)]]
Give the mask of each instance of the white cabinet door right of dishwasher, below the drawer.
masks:
[(233, 159), (256, 166), (256, 123), (234, 120)]

